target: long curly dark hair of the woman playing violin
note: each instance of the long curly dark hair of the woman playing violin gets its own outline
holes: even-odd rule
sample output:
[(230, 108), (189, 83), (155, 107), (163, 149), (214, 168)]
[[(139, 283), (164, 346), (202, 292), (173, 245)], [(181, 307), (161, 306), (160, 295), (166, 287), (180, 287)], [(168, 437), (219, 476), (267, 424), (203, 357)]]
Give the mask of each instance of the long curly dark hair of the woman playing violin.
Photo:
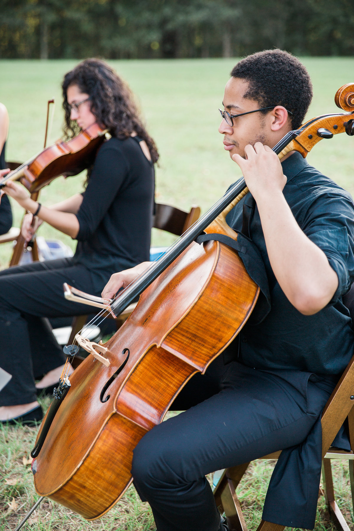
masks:
[(65, 74), (62, 83), (63, 108), (65, 111), (64, 134), (72, 138), (80, 132), (79, 126), (70, 119), (70, 107), (66, 92), (70, 85), (77, 85), (90, 97), (91, 113), (104, 125), (112, 136), (128, 138), (133, 131), (148, 144), (153, 162), (159, 159), (155, 142), (149, 136), (139, 116), (134, 96), (128, 85), (105, 61), (85, 59)]

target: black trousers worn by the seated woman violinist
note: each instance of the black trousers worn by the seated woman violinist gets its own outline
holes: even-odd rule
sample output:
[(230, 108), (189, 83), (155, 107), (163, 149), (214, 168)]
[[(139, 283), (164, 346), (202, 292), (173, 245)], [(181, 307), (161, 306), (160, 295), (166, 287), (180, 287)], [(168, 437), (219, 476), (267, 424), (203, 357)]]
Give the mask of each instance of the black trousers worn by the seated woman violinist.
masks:
[(65, 299), (64, 282), (100, 296), (94, 290), (90, 271), (75, 265), (72, 258), (0, 271), (0, 367), (12, 374), (0, 391), (0, 406), (36, 400), (34, 378), (65, 362), (62, 347), (45, 318), (92, 313), (92, 306)]

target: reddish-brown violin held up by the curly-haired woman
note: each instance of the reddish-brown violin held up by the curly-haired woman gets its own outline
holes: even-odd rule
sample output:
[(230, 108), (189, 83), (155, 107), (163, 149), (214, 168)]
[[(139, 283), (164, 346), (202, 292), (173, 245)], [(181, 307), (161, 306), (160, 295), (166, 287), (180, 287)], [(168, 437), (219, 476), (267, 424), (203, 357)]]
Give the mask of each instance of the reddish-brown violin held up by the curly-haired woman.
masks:
[(107, 129), (103, 130), (94, 123), (67, 142), (50, 145), (8, 173), (2, 179), (0, 189), (6, 185), (6, 181), (20, 181), (32, 194), (39, 192), (56, 177), (79, 174), (93, 164), (106, 133)]

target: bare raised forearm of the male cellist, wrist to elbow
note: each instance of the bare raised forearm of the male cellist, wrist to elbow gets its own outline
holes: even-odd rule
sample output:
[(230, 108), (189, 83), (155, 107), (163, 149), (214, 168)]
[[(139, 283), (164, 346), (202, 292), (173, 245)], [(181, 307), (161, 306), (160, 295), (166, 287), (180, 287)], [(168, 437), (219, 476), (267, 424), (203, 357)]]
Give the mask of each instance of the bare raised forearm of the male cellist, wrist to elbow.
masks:
[(301, 313), (330, 302), (338, 277), (324, 252), (298, 226), (281, 191), (257, 200), (269, 260), (281, 289)]

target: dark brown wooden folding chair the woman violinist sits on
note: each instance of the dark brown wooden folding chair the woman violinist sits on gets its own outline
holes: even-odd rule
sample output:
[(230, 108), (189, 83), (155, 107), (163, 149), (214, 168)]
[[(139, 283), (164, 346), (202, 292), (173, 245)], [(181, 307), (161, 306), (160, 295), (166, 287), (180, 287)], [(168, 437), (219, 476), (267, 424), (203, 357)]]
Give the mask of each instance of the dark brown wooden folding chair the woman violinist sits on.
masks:
[[(196, 205), (192, 205), (189, 212), (180, 210), (176, 207), (171, 207), (168, 204), (156, 203), (156, 213), (153, 218), (153, 227), (161, 230), (166, 230), (169, 233), (181, 236), (195, 221), (199, 218), (201, 209)], [(118, 317), (115, 319), (117, 330), (128, 319), (129, 315), (134, 310), (136, 304), (130, 304)], [(83, 328), (87, 321), (87, 315), (77, 315), (72, 321), (72, 331), (68, 344), (71, 345), (78, 332)], [(75, 356), (74, 363), (77, 366), (77, 361), (80, 363), (83, 358)]]

